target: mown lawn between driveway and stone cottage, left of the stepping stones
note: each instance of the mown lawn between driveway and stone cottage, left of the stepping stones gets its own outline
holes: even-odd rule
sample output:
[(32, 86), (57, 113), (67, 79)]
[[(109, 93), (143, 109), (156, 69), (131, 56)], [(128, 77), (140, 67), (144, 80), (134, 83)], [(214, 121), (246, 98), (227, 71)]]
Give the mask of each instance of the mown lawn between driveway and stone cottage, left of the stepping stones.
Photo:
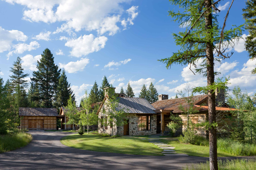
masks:
[(163, 149), (140, 138), (105, 138), (98, 134), (85, 133), (65, 136), (60, 142), (72, 148), (89, 151), (163, 156)]

